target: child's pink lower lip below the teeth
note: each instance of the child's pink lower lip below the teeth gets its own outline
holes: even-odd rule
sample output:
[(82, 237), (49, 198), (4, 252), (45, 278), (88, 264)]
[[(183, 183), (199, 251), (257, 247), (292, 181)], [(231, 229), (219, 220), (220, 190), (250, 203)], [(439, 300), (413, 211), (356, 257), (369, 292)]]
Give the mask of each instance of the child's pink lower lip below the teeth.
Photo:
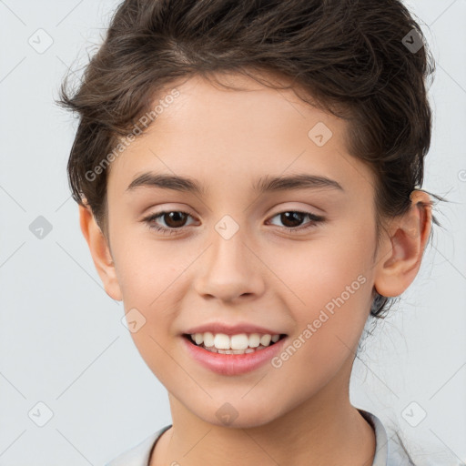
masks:
[(267, 348), (244, 354), (213, 353), (191, 343), (186, 337), (181, 337), (181, 339), (183, 339), (189, 354), (207, 369), (221, 375), (239, 375), (256, 370), (270, 362), (281, 351), (287, 337), (279, 339), (279, 341)]

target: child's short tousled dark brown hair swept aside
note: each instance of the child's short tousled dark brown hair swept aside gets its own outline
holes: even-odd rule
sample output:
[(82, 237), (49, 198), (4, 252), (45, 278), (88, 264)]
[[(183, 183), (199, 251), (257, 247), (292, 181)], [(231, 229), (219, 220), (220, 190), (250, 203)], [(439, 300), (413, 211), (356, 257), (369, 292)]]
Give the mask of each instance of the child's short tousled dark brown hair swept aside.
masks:
[[(412, 31), (425, 44), (415, 53), (403, 43)], [(380, 238), (384, 219), (405, 213), (422, 186), (434, 68), (400, 0), (126, 0), (79, 86), (62, 85), (59, 103), (80, 117), (67, 166), (73, 198), (106, 231), (108, 169), (96, 167), (171, 83), (237, 72), (280, 88), (267, 77), (282, 76), (347, 120), (349, 153), (377, 179)], [(370, 315), (384, 318), (393, 299), (374, 296)]]

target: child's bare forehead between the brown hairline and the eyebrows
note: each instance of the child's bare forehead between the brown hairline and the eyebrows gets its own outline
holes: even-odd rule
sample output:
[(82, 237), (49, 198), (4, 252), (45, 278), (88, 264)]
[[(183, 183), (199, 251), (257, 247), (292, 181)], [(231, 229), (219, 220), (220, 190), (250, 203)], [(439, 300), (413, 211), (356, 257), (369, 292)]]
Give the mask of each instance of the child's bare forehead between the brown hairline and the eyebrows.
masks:
[(347, 152), (344, 120), (303, 102), (292, 89), (242, 75), (220, 81), (234, 88), (193, 76), (159, 93), (152, 106), (157, 117), (113, 162), (108, 184), (121, 191), (149, 170), (195, 177), (206, 186), (214, 177), (238, 189), (246, 177), (254, 186), (264, 174), (288, 172), (370, 184), (369, 168)]

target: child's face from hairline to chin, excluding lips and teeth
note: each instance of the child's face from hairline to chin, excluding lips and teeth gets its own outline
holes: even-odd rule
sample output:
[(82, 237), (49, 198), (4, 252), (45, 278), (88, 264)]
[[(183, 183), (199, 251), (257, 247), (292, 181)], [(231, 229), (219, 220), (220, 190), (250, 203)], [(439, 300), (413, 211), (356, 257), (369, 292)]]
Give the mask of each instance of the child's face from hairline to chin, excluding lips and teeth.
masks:
[[(289, 90), (228, 78), (242, 90), (201, 77), (177, 86), (117, 157), (107, 225), (114, 298), (137, 316), (131, 335), (147, 366), (197, 418), (220, 425), (228, 402), (236, 425), (252, 426), (332, 384), (344, 391), (380, 259), (374, 177), (349, 156), (346, 123)], [(159, 186), (160, 175), (199, 189)], [(293, 176), (309, 179), (259, 188)], [(212, 322), (286, 338), (258, 368), (218, 373), (182, 336)]]

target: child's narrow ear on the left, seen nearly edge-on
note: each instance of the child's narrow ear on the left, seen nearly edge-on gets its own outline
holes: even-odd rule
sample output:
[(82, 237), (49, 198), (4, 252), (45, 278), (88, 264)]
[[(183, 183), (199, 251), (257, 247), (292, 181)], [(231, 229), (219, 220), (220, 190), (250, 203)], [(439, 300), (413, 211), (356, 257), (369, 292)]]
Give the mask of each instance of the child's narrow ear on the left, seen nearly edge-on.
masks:
[(79, 224), (94, 260), (97, 273), (104, 284), (106, 294), (121, 301), (122, 293), (117, 281), (115, 264), (108, 248), (106, 238), (96, 223), (89, 207), (79, 206)]

